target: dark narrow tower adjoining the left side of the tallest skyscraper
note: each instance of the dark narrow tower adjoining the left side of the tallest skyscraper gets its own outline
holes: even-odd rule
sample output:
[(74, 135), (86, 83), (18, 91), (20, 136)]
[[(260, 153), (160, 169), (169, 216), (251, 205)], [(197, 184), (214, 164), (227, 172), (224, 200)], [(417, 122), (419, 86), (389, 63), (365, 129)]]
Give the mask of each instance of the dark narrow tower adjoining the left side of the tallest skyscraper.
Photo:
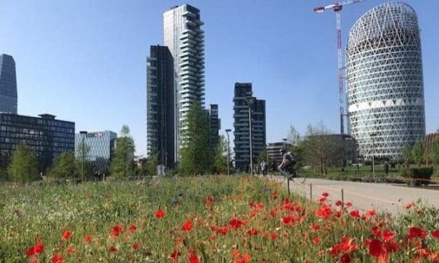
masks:
[(174, 167), (175, 90), (174, 59), (165, 46), (151, 45), (147, 59), (146, 155), (158, 153), (158, 163)]

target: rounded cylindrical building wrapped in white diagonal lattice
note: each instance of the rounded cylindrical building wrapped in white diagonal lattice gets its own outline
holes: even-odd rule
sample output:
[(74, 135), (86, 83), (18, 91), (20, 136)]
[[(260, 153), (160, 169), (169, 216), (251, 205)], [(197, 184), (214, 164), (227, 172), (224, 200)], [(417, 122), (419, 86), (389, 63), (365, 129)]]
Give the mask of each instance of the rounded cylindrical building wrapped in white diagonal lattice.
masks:
[(424, 83), (417, 15), (405, 3), (372, 8), (351, 28), (347, 43), (351, 136), (360, 155), (401, 157), (425, 136)]

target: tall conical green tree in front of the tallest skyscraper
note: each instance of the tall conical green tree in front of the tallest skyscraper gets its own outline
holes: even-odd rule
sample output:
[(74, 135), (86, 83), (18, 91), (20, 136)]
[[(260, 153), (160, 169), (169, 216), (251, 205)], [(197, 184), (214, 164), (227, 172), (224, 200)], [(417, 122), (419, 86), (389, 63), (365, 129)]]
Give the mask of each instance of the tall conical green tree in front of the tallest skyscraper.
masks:
[(199, 175), (209, 171), (211, 152), (209, 122), (200, 103), (195, 101), (181, 129), (180, 169), (183, 175)]

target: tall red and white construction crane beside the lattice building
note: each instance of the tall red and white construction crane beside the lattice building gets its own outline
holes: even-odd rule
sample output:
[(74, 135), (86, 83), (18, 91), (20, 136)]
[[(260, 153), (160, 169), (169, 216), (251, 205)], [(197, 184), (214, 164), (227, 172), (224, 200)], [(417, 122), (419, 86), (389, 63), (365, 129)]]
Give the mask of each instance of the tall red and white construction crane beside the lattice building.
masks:
[(348, 116), (349, 113), (344, 113), (344, 105), (343, 105), (343, 83), (344, 83), (344, 73), (343, 73), (343, 57), (342, 57), (342, 22), (340, 17), (340, 11), (343, 6), (350, 5), (351, 3), (358, 3), (365, 0), (348, 0), (341, 3), (333, 3), (328, 6), (321, 6), (314, 8), (315, 13), (323, 13), (326, 10), (334, 10), (335, 18), (337, 20), (337, 55), (338, 55), (338, 92), (339, 92), (339, 101), (340, 101), (340, 133), (344, 134), (344, 122), (343, 117)]

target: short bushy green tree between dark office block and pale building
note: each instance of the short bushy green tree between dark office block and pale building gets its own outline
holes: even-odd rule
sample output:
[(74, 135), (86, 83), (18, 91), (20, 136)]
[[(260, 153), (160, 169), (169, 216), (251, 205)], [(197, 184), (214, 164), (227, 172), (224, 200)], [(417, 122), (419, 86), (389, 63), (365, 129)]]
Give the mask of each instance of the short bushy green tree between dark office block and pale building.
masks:
[(48, 176), (53, 178), (76, 178), (78, 169), (74, 152), (62, 152), (53, 160), (52, 167), (48, 171)]

